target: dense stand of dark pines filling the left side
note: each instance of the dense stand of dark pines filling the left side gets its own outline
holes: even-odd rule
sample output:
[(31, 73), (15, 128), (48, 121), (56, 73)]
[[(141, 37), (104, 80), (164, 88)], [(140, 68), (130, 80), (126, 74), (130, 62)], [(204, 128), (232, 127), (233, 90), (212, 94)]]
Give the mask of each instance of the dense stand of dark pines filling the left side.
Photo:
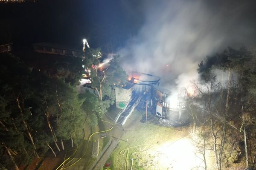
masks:
[(1, 59), (1, 166), (18, 169), (48, 149), (56, 156), (64, 140), (79, 142), (86, 113), (70, 83), (76, 77), (49, 77), (10, 54)]

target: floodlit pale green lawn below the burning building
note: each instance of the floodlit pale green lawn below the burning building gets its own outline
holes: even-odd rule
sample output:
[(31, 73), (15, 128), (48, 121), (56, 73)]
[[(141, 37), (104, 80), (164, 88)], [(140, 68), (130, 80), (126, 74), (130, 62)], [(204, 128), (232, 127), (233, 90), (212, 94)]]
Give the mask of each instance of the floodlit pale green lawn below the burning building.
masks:
[[(133, 163), (132, 169), (134, 170), (164, 170), (173, 166), (164, 162), (171, 160), (164, 160), (166, 153), (163, 150), (167, 147), (170, 148), (170, 145), (178, 139), (184, 139), (183, 137), (188, 135), (187, 127), (172, 128), (148, 122), (141, 123), (141, 116), (142, 113), (135, 110), (126, 122), (119, 145), (109, 159), (112, 170), (130, 170), (131, 163)], [(186, 145), (186, 142), (183, 145)], [(125, 152), (125, 149), (129, 147), (132, 148)], [(122, 150), (124, 151), (120, 154)], [(131, 156), (133, 161), (131, 161)]]

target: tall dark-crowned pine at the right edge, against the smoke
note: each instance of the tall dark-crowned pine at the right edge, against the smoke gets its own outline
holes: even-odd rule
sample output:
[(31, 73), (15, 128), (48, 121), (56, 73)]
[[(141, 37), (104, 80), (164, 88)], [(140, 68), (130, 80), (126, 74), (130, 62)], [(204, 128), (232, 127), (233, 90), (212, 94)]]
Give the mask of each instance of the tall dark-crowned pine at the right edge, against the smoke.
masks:
[[(205, 82), (209, 81), (209, 79), (212, 77), (214, 74), (214, 69), (228, 71), (226, 88), (223, 86), (223, 82), (219, 82), (219, 84), (222, 84), (219, 89), (221, 89), (220, 96), (225, 108), (223, 110), (224, 115), (218, 117), (218, 119), (222, 119), (224, 121), (223, 123), (225, 123), (225, 128), (227, 128), (227, 125), (230, 125), (230, 121), (236, 122), (236, 124), (239, 124), (240, 122), (240, 131), (243, 131), (244, 133), (243, 140), (247, 169), (249, 169), (251, 166), (249, 165), (248, 161), (248, 133), (246, 133), (245, 128), (245, 114), (252, 111), (255, 107), (253, 97), (250, 95), (250, 91), (253, 91), (252, 89), (255, 88), (255, 83), (253, 82), (255, 71), (252, 61), (253, 55), (246, 48), (242, 47), (239, 50), (235, 50), (229, 47), (221, 54), (215, 54), (212, 57), (207, 57), (206, 61), (201, 62), (198, 68), (198, 73), (201, 75), (201, 80)], [(227, 92), (225, 100), (223, 91)], [(219, 109), (219, 107), (216, 108)], [(218, 111), (218, 113), (220, 112)]]

